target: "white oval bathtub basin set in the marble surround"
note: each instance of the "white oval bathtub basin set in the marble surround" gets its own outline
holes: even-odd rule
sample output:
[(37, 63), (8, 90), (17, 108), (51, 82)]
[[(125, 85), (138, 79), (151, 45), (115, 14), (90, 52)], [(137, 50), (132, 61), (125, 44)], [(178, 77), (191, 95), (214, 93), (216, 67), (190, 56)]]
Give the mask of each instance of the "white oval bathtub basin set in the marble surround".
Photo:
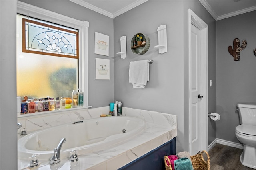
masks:
[(47, 161), (62, 138), (60, 157), (68, 158), (70, 151), (86, 154), (109, 148), (143, 133), (145, 122), (135, 117), (100, 117), (86, 119), (42, 129), (18, 140), (18, 158), (28, 159), (40, 154), (40, 161)]

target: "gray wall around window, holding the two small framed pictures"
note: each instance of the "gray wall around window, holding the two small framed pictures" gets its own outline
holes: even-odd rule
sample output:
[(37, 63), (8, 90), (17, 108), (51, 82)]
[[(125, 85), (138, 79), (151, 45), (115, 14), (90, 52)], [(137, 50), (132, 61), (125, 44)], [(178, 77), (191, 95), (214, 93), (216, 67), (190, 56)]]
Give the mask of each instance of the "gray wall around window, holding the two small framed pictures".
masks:
[[(89, 22), (88, 28), (88, 95), (93, 108), (108, 106), (114, 101), (114, 70), (110, 69), (110, 80), (95, 80), (95, 58), (110, 59), (113, 68), (113, 19), (69, 0), (20, 0), (27, 4)], [(109, 56), (94, 54), (94, 32), (109, 36)]]

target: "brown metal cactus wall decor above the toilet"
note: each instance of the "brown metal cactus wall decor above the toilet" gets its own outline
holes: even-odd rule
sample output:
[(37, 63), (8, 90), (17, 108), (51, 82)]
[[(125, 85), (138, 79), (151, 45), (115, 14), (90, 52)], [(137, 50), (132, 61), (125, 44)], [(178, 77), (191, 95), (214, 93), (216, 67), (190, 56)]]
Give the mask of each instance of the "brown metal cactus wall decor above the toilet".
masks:
[(238, 38), (235, 38), (233, 41), (233, 49), (231, 46), (228, 47), (228, 52), (234, 57), (234, 61), (240, 60), (240, 52), (245, 49), (247, 42), (242, 41), (242, 46), (240, 47), (240, 41)]

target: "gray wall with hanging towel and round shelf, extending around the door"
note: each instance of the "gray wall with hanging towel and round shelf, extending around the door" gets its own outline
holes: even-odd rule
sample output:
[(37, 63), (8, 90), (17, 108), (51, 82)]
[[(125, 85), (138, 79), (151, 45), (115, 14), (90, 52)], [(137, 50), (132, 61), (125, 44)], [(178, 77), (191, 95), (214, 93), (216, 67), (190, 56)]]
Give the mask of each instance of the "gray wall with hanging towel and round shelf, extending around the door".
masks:
[[(114, 58), (114, 99), (123, 106), (178, 115), (177, 152), (188, 150), (188, 9), (209, 25), (209, 111), (216, 111), (216, 21), (198, 0), (150, 0), (114, 18), (114, 54), (120, 51), (120, 37), (126, 36), (127, 58)], [(158, 26), (167, 25), (168, 52), (158, 54)], [(130, 42), (136, 33), (150, 38), (144, 55), (132, 53)], [(129, 84), (129, 63), (153, 59), (150, 81), (144, 89)], [(207, 114), (207, 113), (206, 113)], [(209, 121), (209, 142), (216, 138), (216, 123)]]

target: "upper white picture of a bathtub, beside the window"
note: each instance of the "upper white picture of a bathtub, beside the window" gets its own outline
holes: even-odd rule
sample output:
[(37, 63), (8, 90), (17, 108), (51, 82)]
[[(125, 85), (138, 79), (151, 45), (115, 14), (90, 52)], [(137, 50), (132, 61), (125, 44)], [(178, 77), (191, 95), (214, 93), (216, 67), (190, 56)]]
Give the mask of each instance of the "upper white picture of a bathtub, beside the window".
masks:
[(108, 56), (109, 37), (101, 33), (95, 32), (94, 54)]

